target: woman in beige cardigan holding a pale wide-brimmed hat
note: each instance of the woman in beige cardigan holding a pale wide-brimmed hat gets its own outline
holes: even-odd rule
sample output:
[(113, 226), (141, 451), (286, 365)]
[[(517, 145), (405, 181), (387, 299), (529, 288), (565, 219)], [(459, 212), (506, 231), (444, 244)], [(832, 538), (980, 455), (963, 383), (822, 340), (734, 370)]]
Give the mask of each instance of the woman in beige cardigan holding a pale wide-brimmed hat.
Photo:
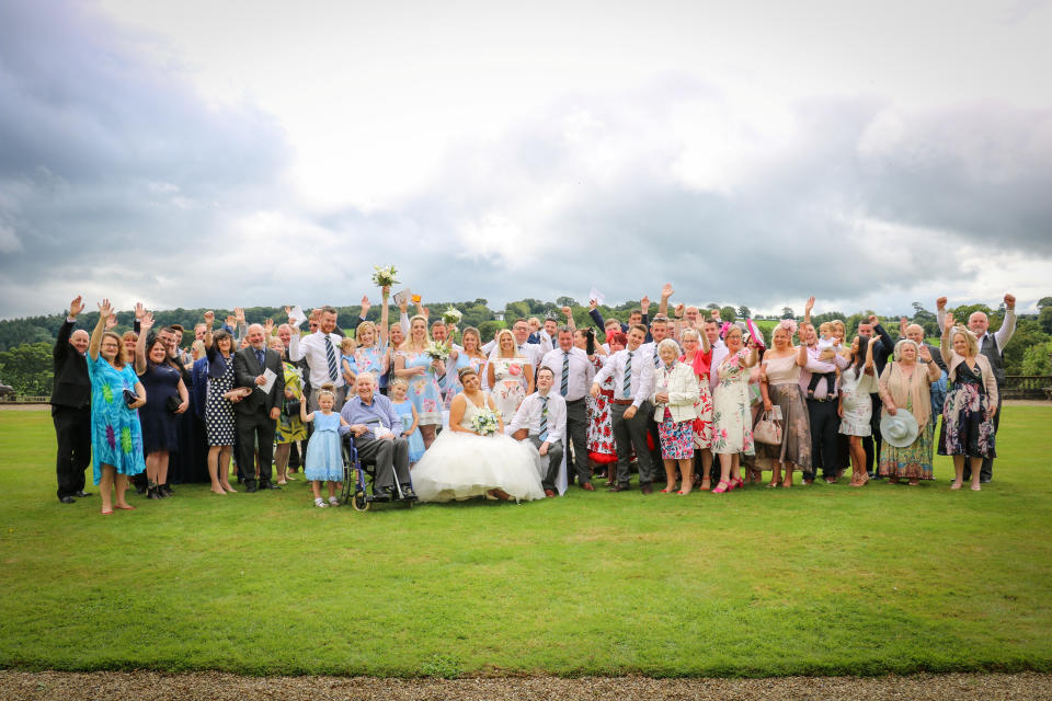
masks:
[(900, 479), (916, 486), (931, 474), (931, 382), (939, 379), (939, 368), (931, 363), (931, 354), (908, 338), (895, 344), (895, 360), (880, 374), (878, 393), (883, 402), (883, 415), (894, 416), (900, 409), (913, 414), (917, 422), (917, 437), (908, 446), (896, 448), (888, 437), (880, 447), (880, 474), (892, 484)]

